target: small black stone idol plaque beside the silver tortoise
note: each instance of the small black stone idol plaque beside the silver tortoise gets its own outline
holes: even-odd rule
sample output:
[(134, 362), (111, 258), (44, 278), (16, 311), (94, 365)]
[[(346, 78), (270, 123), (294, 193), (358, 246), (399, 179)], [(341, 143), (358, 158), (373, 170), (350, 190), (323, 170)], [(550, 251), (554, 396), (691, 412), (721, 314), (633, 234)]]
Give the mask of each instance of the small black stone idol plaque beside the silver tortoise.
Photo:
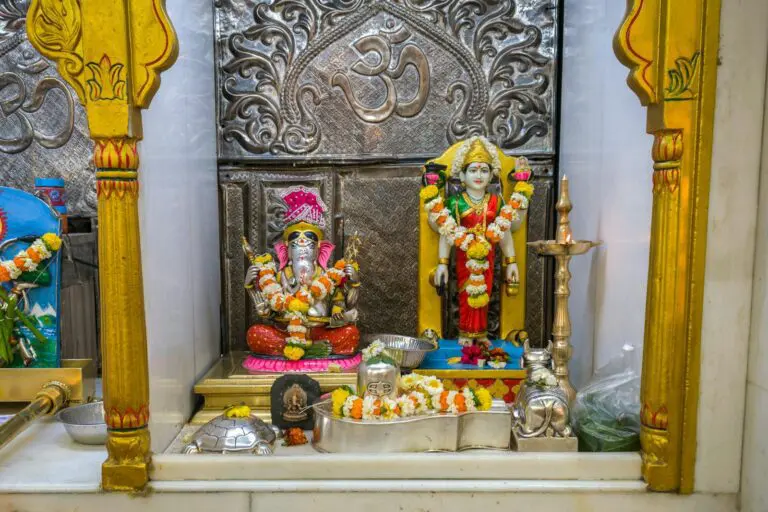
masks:
[(320, 397), (320, 384), (303, 374), (283, 375), (270, 391), (272, 424), (282, 429), (312, 430), (314, 411), (309, 408)]

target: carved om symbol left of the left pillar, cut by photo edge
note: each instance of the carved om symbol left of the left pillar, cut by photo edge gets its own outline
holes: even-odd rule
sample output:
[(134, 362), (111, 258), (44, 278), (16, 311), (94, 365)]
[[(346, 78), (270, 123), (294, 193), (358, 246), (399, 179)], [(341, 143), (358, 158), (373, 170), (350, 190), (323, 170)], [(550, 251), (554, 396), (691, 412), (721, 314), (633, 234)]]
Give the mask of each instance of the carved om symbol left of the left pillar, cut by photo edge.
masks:
[[(0, 96), (0, 112), (9, 122), (15, 121), (13, 124), (17, 126), (17, 129), (12, 132), (15, 134), (12, 138), (0, 137), (0, 152), (21, 153), (35, 141), (46, 149), (60, 148), (67, 143), (75, 127), (75, 103), (61, 80), (50, 76), (40, 80), (26, 105), (27, 88), (17, 74), (0, 73), (0, 93), (6, 88), (11, 90), (15, 88), (16, 90), (10, 97)], [(67, 118), (58, 133), (48, 134), (36, 130), (27, 114), (40, 110), (48, 98), (48, 93), (54, 89), (59, 89), (64, 93)], [(8, 133), (6, 130), (4, 132)]]

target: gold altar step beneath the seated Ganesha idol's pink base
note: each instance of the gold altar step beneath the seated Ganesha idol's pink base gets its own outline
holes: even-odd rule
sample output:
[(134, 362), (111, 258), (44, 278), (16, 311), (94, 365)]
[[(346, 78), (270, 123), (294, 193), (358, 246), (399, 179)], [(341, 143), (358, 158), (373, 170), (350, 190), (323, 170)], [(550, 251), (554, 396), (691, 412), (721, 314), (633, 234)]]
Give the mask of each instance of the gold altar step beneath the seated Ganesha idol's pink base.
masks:
[[(219, 361), (195, 384), (195, 393), (203, 397), (203, 407), (190, 421), (202, 425), (221, 414), (230, 405), (245, 404), (264, 421), (271, 421), (269, 393), (282, 373), (250, 373), (243, 368), (247, 352), (232, 352)], [(323, 393), (344, 384), (355, 386), (357, 373), (307, 373), (320, 384)]]

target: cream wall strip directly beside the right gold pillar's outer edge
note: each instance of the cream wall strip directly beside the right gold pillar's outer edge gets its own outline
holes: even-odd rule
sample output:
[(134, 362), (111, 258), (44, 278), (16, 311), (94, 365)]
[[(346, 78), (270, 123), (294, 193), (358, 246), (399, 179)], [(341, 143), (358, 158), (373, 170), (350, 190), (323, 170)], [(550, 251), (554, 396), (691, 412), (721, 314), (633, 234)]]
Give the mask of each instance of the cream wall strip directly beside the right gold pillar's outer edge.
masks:
[[(767, 20), (765, 0), (722, 2), (701, 333), (697, 491), (739, 489)], [(765, 487), (765, 472), (760, 478)]]

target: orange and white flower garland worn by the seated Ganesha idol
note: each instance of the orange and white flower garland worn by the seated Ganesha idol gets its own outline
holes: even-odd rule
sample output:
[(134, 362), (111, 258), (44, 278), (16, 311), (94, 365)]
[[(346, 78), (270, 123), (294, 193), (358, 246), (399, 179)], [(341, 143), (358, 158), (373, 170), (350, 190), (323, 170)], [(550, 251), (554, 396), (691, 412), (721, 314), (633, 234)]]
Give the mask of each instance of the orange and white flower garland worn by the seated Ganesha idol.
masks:
[(304, 357), (306, 349), (312, 346), (312, 340), (307, 338), (307, 313), (317, 301), (332, 295), (344, 281), (344, 267), (347, 263), (339, 260), (332, 267), (312, 281), (309, 289), (302, 286), (295, 293), (285, 293), (277, 281), (277, 267), (272, 256), (262, 254), (253, 261), (259, 271), (258, 288), (269, 301), (269, 307), (276, 313), (285, 313), (288, 319), (288, 338), (283, 349), (283, 355), (291, 360)]

